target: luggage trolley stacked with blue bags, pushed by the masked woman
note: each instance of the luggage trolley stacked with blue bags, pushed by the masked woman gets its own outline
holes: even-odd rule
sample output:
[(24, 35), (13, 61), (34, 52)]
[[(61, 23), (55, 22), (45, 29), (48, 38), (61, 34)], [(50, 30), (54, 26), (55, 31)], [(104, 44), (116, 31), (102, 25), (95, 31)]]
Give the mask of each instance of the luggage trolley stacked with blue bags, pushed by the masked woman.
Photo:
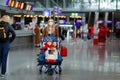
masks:
[[(57, 59), (46, 59), (46, 53), (50, 54), (50, 50), (48, 50), (45, 47), (45, 43), (47, 42), (48, 39), (51, 39), (53, 42), (56, 42), (57, 47), (59, 49), (55, 49), (57, 51)], [(52, 75), (54, 72), (61, 74), (63, 58), (61, 55), (61, 47), (60, 47), (60, 41), (58, 40), (57, 37), (54, 36), (47, 36), (43, 39), (42, 41), (42, 47), (40, 48), (40, 53), (38, 54), (38, 65), (39, 65), (39, 72), (42, 73), (43, 69), (44, 72)]]

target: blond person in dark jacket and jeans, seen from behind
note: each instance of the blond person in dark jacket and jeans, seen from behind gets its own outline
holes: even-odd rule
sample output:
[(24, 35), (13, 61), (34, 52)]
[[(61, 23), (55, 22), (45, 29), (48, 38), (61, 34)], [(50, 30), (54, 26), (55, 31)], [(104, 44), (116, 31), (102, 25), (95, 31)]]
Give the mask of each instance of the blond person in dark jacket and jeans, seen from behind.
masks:
[[(10, 37), (10, 34), (12, 35)], [(5, 76), (7, 68), (7, 57), (10, 50), (10, 43), (15, 39), (16, 34), (13, 27), (10, 25), (10, 17), (4, 15), (0, 19), (0, 77)]]

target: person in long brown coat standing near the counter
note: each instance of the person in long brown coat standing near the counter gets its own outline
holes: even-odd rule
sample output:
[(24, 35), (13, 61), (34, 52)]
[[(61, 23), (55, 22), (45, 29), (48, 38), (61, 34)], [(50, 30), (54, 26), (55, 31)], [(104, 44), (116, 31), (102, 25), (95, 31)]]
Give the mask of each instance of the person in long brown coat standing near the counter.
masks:
[(35, 25), (35, 46), (36, 47), (40, 47), (40, 27), (38, 26), (38, 24)]

